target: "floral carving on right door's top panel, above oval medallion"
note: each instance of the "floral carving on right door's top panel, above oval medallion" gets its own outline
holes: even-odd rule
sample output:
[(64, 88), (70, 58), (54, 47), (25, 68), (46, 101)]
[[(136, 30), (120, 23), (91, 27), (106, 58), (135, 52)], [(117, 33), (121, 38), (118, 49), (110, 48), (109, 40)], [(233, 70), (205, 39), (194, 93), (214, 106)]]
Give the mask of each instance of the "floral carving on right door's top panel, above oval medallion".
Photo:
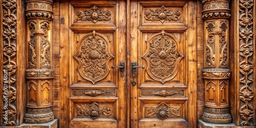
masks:
[(160, 21), (161, 23), (164, 23), (165, 20), (179, 20), (181, 17), (180, 11), (178, 9), (166, 9), (164, 5), (162, 5), (161, 9), (156, 9), (147, 11), (145, 13), (145, 19), (146, 20), (152, 20), (152, 21)]

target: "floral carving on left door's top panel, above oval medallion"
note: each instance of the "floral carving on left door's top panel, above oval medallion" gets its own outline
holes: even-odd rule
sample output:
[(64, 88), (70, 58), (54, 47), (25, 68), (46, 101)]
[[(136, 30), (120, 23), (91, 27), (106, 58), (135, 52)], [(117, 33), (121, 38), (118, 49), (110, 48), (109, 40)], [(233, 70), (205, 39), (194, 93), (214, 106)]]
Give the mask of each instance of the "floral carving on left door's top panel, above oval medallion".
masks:
[(76, 15), (78, 16), (77, 20), (92, 20), (93, 23), (96, 23), (98, 20), (111, 19), (111, 12), (109, 10), (103, 11), (95, 5), (89, 10), (77, 11)]

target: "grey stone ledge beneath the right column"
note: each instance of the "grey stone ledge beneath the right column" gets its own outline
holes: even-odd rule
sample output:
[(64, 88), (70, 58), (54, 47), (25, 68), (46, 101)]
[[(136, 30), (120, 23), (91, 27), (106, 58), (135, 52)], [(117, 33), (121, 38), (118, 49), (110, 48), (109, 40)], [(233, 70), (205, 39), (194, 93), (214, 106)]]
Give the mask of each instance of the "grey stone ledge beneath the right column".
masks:
[(227, 123), (227, 124), (207, 123), (207, 122), (204, 122), (203, 120), (198, 120), (197, 127), (198, 128), (233, 128), (233, 127), (252, 128), (252, 127), (254, 127), (255, 128), (255, 126), (236, 126), (233, 123)]

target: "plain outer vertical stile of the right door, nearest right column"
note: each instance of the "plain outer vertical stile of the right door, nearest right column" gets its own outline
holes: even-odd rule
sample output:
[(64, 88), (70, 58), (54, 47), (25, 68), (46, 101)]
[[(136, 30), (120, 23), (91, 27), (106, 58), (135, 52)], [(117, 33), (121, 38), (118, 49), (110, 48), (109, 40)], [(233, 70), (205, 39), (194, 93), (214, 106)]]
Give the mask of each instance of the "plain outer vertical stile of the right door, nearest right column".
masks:
[(197, 1), (188, 1), (188, 31), (187, 49), (188, 49), (188, 125), (197, 126)]

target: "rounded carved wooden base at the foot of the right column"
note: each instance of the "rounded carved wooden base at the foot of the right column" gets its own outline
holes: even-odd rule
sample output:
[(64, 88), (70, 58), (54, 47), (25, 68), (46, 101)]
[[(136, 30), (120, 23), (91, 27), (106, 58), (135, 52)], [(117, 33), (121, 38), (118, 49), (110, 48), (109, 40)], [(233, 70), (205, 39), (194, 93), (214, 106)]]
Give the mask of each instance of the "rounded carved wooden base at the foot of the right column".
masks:
[(209, 108), (205, 106), (202, 120), (208, 123), (230, 123), (232, 117), (229, 114), (229, 108)]

